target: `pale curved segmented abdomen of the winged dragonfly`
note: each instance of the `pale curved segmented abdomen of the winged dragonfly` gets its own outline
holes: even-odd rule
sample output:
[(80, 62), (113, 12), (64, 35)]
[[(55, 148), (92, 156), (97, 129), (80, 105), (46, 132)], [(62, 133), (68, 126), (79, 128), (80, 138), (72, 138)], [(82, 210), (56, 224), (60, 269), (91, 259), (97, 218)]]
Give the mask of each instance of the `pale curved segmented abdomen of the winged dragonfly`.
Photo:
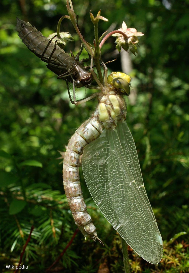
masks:
[(94, 241), (97, 238), (97, 232), (83, 199), (79, 166), (84, 147), (98, 138), (102, 130), (102, 125), (96, 117), (86, 120), (71, 137), (65, 152), (63, 165), (65, 194), (75, 223), (85, 237), (90, 237)]

